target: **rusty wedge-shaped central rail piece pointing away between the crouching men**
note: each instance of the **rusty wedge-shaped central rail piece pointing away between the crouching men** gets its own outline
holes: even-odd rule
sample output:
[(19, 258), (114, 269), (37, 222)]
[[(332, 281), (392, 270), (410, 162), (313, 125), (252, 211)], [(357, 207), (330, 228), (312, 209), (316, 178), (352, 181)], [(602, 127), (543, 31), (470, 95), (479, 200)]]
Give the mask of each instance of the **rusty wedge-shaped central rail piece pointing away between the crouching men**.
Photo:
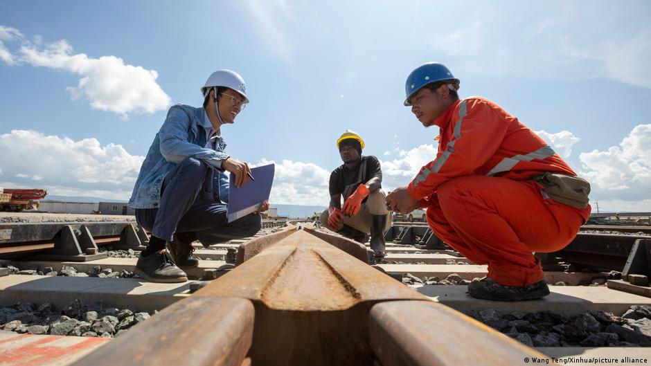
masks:
[(194, 296), (248, 298), (287, 311), (341, 311), (366, 301), (427, 300), (305, 230), (269, 244)]

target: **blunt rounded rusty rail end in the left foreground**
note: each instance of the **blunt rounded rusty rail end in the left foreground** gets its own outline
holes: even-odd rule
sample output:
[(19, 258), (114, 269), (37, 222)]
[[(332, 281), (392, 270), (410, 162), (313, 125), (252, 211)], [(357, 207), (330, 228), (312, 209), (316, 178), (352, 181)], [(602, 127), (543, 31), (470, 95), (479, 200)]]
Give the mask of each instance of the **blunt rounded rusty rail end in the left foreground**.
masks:
[(73, 366), (246, 365), (253, 316), (253, 305), (248, 300), (187, 298)]

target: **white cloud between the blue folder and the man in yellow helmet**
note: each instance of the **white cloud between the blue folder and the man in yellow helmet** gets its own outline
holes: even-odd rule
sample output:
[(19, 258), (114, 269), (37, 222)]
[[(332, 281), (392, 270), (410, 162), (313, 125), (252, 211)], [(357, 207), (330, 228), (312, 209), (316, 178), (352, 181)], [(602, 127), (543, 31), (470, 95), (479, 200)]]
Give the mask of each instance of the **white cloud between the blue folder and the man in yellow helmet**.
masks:
[[(256, 165), (276, 163), (262, 159)], [(276, 163), (269, 202), (288, 205), (328, 205), (330, 172), (313, 163), (283, 160)]]

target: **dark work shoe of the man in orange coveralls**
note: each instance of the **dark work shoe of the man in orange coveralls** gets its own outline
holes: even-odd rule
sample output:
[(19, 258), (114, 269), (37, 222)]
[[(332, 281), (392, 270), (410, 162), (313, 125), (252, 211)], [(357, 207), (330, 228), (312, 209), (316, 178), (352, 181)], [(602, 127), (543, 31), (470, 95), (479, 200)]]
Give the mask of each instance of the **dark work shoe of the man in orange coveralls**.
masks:
[(468, 285), (468, 293), (473, 298), (496, 301), (535, 300), (549, 295), (549, 287), (544, 281), (529, 286), (506, 286), (495, 280), (483, 277), (474, 279)]

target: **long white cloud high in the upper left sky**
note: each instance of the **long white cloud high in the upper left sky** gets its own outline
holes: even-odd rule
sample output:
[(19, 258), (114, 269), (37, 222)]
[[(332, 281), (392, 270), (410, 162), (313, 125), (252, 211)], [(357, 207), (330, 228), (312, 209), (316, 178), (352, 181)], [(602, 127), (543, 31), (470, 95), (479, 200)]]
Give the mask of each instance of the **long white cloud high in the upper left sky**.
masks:
[(169, 95), (156, 82), (158, 73), (154, 70), (125, 64), (115, 56), (93, 58), (74, 53), (65, 39), (42, 46), (39, 37), (29, 42), (19, 30), (6, 26), (0, 26), (2, 40), (19, 44), (11, 52), (0, 43), (0, 60), (6, 64), (30, 64), (79, 75), (77, 86), (66, 90), (73, 100), (87, 98), (94, 109), (127, 118), (130, 113), (154, 113), (170, 104)]

